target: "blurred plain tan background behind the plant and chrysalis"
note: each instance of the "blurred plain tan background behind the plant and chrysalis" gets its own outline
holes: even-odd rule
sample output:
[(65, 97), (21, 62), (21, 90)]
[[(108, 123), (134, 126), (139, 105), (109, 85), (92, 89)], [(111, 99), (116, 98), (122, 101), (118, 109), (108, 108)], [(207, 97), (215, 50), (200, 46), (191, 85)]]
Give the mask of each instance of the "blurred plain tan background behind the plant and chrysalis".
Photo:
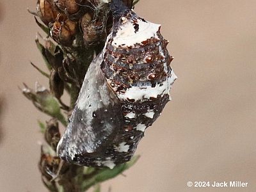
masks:
[[(0, 191), (47, 191), (37, 163), (42, 140), (22, 82), (47, 86), (36, 26), (36, 0), (0, 1)], [(136, 12), (162, 24), (179, 77), (172, 102), (146, 131), (138, 163), (104, 183), (113, 192), (256, 191), (256, 1), (141, 0)], [(188, 188), (187, 182), (241, 180), (248, 188)]]

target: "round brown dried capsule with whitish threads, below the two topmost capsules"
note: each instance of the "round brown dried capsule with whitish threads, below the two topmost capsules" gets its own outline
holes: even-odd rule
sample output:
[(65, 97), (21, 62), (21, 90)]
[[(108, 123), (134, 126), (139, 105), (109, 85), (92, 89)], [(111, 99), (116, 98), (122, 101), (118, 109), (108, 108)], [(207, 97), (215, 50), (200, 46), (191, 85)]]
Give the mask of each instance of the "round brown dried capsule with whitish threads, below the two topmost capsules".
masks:
[(50, 34), (56, 42), (63, 45), (70, 45), (75, 39), (77, 22), (67, 19), (65, 15), (58, 15), (56, 21), (50, 26)]

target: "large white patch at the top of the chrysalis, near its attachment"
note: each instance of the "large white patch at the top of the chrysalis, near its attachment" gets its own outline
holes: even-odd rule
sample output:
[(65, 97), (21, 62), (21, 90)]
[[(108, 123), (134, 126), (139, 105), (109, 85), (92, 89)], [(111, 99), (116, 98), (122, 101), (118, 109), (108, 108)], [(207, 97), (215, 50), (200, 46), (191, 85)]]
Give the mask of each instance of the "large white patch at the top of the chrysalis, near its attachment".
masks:
[(122, 24), (113, 38), (112, 45), (118, 47), (125, 42), (125, 46), (133, 46), (134, 44), (141, 44), (141, 42), (152, 37), (158, 38), (157, 31), (161, 25), (144, 22), (140, 18), (138, 18), (137, 24), (139, 25), (139, 30), (136, 33), (131, 20)]

